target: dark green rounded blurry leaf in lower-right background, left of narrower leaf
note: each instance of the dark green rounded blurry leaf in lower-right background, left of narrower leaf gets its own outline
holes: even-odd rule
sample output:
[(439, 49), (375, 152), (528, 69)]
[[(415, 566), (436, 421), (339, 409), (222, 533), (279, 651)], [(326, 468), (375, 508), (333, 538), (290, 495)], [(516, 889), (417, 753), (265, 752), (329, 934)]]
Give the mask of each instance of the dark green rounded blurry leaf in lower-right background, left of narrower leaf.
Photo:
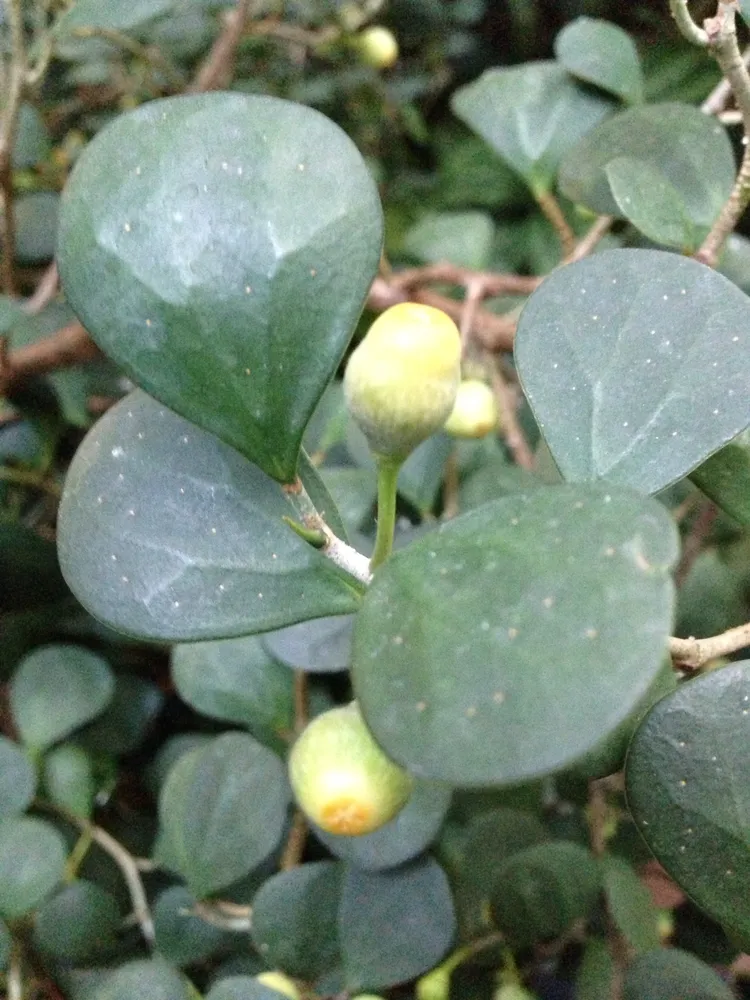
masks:
[(519, 851), (495, 872), (492, 916), (511, 946), (559, 937), (588, 917), (601, 890), (596, 859), (558, 840)]

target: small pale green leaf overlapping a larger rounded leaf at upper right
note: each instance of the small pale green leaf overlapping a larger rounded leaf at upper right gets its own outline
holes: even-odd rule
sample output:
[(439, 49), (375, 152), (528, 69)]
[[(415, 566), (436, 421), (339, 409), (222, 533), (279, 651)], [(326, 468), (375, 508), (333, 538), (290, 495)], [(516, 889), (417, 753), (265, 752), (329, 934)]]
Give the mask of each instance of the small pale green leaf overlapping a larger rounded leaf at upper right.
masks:
[(618, 156), (605, 173), (620, 211), (644, 236), (683, 253), (698, 249), (706, 230), (696, 229), (682, 195), (660, 170), (644, 160)]

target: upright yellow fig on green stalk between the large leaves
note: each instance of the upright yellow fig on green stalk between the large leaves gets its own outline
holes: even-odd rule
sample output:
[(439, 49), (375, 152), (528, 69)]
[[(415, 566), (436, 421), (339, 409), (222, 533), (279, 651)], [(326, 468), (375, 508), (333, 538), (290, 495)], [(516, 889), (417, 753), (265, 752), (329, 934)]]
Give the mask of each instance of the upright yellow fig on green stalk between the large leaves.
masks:
[(461, 337), (440, 309), (386, 309), (349, 358), (349, 411), (375, 456), (402, 462), (445, 423), (461, 378)]

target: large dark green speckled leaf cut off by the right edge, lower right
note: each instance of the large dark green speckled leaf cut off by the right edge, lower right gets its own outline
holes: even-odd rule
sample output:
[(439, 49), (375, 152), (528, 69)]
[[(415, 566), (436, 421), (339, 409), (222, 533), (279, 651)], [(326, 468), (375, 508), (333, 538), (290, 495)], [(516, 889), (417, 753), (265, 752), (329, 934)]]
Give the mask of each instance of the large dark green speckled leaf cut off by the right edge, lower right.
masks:
[(674, 880), (726, 928), (750, 933), (750, 660), (682, 684), (641, 723), (628, 804)]

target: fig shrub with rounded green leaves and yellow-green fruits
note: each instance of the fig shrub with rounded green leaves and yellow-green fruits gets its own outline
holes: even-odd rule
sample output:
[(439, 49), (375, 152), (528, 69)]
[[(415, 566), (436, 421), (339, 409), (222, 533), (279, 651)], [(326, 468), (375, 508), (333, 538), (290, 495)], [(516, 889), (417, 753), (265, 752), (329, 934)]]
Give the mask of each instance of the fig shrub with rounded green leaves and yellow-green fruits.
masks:
[[(90, 40), (87, 6), (60, 16), (69, 45)], [(726, 77), (703, 109), (647, 101), (633, 41), (590, 18), (554, 59), (455, 90), (472, 155), (546, 227), (553, 264), (517, 268), (538, 277), (493, 272), (494, 222), (468, 197), (406, 242), (471, 232), (472, 266), (430, 251), (394, 275), (372, 164), (286, 98), (160, 97), (81, 152), (57, 268), (128, 391), (57, 512), (91, 617), (12, 662), (13, 1000), (39, 969), (73, 1000), (520, 1000), (541, 994), (541, 954), (570, 960), (580, 1000), (733, 995), (710, 966), (750, 942), (736, 8), (698, 25), (670, 3)], [(394, 35), (367, 26), (379, 5), (347, 9), (286, 34), (325, 53), (345, 31), (342, 51), (394, 67)], [(122, 44), (131, 25), (95, 27)], [(54, 493), (48, 472), (33, 482)], [(51, 558), (21, 527), (24, 566)], [(33, 593), (15, 579), (4, 612)], [(695, 638), (695, 621), (718, 625)], [(169, 651), (163, 690), (119, 669), (151, 647)], [(157, 815), (118, 838), (92, 817), (165, 690), (203, 724), (148, 758)], [(652, 857), (710, 947), (662, 947), (676, 932), (641, 877)]]

